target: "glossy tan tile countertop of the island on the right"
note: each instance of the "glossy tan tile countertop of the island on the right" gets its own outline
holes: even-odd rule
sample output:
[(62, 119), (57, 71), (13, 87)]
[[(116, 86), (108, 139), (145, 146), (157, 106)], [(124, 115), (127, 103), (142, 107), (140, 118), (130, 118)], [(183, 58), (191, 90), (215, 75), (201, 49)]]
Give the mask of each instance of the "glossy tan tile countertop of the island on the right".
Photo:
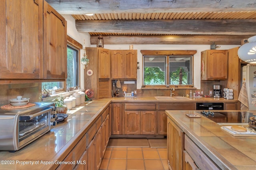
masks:
[[(256, 111), (250, 111), (256, 113)], [(256, 136), (235, 137), (206, 117), (189, 118), (196, 111), (166, 111), (166, 114), (222, 169), (256, 169)], [(199, 113), (200, 114), (200, 113)], [(247, 126), (247, 125), (244, 125)]]

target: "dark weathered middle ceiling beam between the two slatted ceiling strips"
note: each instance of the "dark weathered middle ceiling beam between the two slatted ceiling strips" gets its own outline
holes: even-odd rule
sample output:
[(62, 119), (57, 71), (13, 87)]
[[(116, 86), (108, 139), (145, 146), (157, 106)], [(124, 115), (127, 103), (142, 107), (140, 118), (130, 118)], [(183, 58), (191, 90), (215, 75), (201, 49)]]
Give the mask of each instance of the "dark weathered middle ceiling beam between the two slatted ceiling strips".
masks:
[(256, 20), (76, 20), (78, 32), (255, 35)]

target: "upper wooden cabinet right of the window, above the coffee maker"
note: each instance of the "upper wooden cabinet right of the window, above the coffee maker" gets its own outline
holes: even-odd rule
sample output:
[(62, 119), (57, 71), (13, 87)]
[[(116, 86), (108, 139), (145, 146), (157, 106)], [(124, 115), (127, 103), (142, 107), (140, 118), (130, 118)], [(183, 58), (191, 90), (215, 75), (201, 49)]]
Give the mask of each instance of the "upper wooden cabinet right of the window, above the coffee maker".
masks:
[(228, 79), (228, 51), (206, 50), (201, 52), (201, 80)]

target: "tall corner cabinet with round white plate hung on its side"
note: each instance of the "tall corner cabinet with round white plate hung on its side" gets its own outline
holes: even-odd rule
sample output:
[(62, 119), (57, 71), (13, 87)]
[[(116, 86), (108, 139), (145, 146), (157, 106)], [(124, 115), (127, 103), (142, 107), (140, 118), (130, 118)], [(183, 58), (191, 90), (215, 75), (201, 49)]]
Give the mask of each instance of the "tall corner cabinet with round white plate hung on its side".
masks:
[(111, 97), (110, 52), (108, 49), (86, 47), (86, 55), (90, 64), (84, 70), (85, 88), (94, 90), (92, 98)]

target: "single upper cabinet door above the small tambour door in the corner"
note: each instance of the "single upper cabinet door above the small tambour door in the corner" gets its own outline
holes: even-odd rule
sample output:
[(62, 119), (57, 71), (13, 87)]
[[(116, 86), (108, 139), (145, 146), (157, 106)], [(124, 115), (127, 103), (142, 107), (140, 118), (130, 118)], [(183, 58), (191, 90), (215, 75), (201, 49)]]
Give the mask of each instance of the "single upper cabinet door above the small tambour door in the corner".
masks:
[(98, 48), (99, 78), (110, 78), (110, 53), (108, 49)]

